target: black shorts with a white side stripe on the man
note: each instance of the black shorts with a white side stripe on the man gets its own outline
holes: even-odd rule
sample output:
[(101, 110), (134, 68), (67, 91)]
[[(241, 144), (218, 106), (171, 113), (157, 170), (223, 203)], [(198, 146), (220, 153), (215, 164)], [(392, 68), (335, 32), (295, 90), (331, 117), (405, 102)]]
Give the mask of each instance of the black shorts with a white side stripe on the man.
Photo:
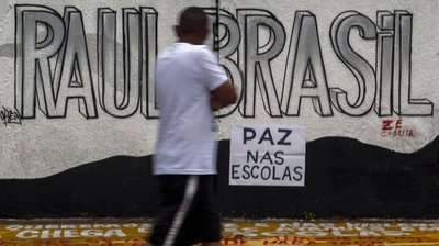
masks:
[(158, 176), (160, 206), (149, 243), (189, 246), (219, 242), (221, 221), (213, 175)]

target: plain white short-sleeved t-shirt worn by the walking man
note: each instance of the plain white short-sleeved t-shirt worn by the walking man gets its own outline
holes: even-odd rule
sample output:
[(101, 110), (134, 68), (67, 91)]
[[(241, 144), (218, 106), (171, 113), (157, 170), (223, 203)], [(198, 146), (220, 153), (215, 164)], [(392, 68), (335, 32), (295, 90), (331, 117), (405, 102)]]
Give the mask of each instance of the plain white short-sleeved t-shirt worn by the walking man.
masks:
[(158, 56), (160, 127), (154, 175), (216, 174), (211, 92), (228, 80), (205, 45), (175, 43)]

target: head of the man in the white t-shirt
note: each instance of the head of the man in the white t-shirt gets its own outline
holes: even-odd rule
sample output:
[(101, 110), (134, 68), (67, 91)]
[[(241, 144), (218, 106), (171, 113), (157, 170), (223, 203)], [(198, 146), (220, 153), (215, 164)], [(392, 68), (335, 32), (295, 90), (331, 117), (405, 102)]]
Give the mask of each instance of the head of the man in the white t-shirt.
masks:
[(181, 42), (203, 44), (209, 34), (207, 15), (198, 7), (184, 9), (176, 25), (176, 33)]

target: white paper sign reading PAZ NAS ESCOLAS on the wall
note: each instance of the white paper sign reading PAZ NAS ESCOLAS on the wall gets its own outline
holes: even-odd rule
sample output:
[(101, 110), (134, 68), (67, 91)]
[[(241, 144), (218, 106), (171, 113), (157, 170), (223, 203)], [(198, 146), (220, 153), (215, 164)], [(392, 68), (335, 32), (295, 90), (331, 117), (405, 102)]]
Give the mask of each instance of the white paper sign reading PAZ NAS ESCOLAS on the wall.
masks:
[(305, 186), (305, 128), (238, 124), (232, 127), (229, 185)]

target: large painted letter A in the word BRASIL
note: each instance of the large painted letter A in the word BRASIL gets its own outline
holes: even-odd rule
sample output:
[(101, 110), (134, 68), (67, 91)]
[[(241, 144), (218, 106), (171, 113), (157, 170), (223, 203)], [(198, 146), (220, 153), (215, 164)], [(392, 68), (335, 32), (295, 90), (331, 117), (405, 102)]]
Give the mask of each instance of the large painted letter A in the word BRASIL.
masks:
[(295, 14), (284, 75), (282, 110), (285, 115), (300, 115), (303, 98), (313, 100), (319, 115), (333, 115), (317, 22), (311, 12)]

